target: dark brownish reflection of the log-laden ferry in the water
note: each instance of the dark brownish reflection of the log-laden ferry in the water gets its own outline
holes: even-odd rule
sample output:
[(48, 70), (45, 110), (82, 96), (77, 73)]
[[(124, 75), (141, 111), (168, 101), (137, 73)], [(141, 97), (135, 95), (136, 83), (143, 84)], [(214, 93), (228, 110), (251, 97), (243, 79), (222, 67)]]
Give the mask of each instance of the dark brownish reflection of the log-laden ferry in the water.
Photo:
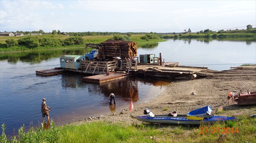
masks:
[[(86, 83), (82, 81), (84, 77), (83, 74), (63, 74), (62, 75), (62, 87), (64, 89), (69, 88), (86, 88), (87, 92), (93, 93), (95, 95), (104, 95), (106, 101), (108, 101), (109, 94), (114, 93), (116, 99), (121, 99), (121, 102), (129, 102), (134, 101), (137, 102), (139, 100), (139, 87), (138, 84), (144, 85), (154, 85), (155, 87), (160, 86), (162, 89), (163, 86), (168, 85), (170, 81), (163, 80), (155, 80), (155, 79), (137, 79), (134, 78), (124, 78), (116, 80), (115, 82), (107, 82), (103, 84), (95, 84), (95, 83)], [(143, 80), (143, 81), (142, 81)], [(85, 87), (84, 87), (85, 86)]]

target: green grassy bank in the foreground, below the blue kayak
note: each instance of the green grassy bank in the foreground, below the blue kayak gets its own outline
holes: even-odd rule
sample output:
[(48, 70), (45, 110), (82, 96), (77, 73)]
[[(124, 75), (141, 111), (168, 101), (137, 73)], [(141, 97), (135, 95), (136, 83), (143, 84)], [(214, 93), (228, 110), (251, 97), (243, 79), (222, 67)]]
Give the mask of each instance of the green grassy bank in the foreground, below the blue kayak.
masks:
[[(256, 111), (256, 107), (252, 107)], [(237, 121), (201, 126), (171, 126), (151, 123), (110, 123), (93, 121), (81, 125), (54, 126), (51, 129), (21, 127), (19, 135), (3, 143), (255, 143), (256, 118), (241, 115)], [(135, 119), (131, 119), (135, 120)], [(2, 126), (4, 129), (4, 126)], [(218, 130), (218, 131), (217, 131)], [(11, 141), (10, 141), (11, 140)]]

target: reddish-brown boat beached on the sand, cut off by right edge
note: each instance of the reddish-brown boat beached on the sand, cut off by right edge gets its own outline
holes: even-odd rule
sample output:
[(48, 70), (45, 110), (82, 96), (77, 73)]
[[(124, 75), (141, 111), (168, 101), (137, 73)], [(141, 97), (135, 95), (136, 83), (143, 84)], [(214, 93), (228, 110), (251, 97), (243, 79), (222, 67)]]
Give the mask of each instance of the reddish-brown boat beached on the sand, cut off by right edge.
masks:
[(238, 105), (256, 104), (256, 92), (250, 92), (248, 90), (247, 93), (239, 93), (238, 95), (234, 95), (234, 99)]

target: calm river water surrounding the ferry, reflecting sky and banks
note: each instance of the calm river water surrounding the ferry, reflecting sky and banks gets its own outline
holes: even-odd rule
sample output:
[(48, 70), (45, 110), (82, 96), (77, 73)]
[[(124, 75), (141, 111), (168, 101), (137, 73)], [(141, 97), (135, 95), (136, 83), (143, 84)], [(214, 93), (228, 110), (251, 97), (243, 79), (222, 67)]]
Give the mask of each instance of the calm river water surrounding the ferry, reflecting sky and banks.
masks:
[[(136, 104), (148, 102), (164, 90), (171, 81), (144, 77), (125, 78), (109, 84), (88, 84), (84, 75), (63, 74), (36, 76), (36, 70), (59, 67), (63, 50), (0, 54), (0, 124), (6, 124), (6, 134), (17, 134), (26, 128), (41, 126), (41, 102), (47, 99), (52, 107), (50, 118), (56, 125), (98, 117), (128, 109), (131, 99)], [(66, 54), (82, 55), (84, 49), (65, 50)], [(165, 62), (179, 65), (229, 70), (231, 66), (256, 63), (255, 41), (167, 40), (138, 48), (140, 54), (154, 53)], [(109, 106), (108, 96), (116, 95), (116, 105)], [(2, 133), (2, 130), (1, 130)]]

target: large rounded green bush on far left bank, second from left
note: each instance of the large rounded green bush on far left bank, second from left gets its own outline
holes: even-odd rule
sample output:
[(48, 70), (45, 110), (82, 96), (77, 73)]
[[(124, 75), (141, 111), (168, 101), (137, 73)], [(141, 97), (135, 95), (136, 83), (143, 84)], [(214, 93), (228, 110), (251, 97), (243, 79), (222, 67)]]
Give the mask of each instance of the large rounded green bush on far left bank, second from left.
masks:
[(26, 38), (18, 40), (19, 45), (26, 45), (29, 48), (36, 48), (39, 46), (39, 41), (35, 36), (27, 36)]

